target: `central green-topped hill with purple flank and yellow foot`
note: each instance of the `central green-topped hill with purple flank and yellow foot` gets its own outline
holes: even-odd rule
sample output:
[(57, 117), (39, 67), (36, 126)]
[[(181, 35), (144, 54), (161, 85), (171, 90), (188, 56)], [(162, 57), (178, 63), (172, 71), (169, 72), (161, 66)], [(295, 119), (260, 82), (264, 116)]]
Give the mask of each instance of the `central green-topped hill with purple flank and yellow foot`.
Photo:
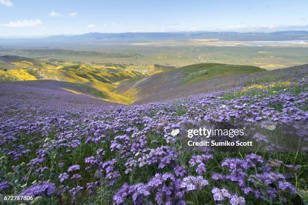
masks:
[(264, 70), (255, 66), (200, 63), (131, 81), (120, 85), (114, 91), (136, 100), (147, 95), (174, 90), (175, 88), (185, 87), (209, 79)]

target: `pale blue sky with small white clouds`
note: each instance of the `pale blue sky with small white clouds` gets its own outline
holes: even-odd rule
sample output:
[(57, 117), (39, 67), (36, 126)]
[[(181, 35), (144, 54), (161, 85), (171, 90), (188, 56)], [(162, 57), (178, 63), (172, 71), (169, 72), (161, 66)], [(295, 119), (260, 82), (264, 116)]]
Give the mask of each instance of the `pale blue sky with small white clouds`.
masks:
[(0, 36), (308, 30), (308, 1), (0, 0)]

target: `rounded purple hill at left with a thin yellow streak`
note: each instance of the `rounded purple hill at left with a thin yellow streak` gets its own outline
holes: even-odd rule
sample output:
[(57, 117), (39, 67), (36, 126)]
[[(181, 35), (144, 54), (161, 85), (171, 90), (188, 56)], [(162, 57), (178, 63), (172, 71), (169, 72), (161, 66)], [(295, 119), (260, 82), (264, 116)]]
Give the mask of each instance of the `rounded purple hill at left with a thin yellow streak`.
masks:
[[(5, 115), (10, 115), (9, 110), (15, 110), (23, 106), (49, 107), (49, 111), (67, 105), (70, 108), (81, 106), (115, 106), (114, 102), (108, 102), (101, 92), (91, 87), (76, 83), (60, 82), (54, 80), (33, 80), (0, 82), (2, 100), (10, 100)], [(35, 111), (34, 111), (35, 112)]]

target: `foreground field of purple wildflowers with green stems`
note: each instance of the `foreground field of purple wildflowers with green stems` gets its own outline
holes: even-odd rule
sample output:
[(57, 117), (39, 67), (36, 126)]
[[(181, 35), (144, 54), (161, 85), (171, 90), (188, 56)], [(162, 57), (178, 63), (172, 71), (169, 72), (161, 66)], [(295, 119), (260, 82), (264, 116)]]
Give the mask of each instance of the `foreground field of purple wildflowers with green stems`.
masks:
[[(4, 84), (0, 193), (31, 204), (304, 204), (307, 74), (135, 106)], [(184, 150), (187, 124), (202, 122), (287, 123), (302, 149), (270, 149), (258, 134), (267, 151)]]

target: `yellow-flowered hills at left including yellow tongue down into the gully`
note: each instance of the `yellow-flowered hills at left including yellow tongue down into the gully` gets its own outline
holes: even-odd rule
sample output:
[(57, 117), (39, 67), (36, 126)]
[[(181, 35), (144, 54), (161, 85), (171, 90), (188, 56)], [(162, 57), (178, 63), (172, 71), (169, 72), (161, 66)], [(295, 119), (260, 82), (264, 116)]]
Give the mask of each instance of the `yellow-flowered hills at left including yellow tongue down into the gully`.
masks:
[[(104, 100), (130, 104), (128, 97), (112, 92), (121, 81), (140, 79), (144, 74), (154, 74), (173, 69), (171, 66), (132, 66), (120, 63), (64, 62), (49, 58), (0, 57), (0, 81), (49, 79), (87, 85)], [(139, 71), (140, 72), (139, 72)]]

